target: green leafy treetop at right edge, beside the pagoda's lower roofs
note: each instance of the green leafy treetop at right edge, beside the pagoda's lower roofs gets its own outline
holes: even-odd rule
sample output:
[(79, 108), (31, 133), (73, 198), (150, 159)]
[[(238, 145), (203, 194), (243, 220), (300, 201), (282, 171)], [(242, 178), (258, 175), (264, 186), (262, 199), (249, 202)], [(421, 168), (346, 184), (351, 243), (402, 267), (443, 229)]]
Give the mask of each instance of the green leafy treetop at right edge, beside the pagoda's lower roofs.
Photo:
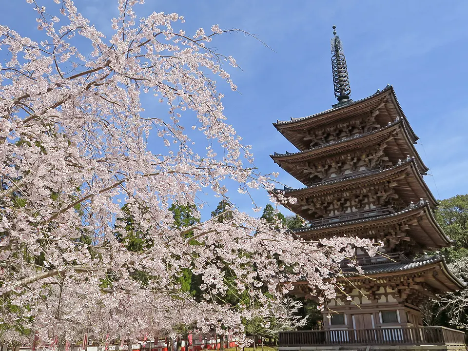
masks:
[(443, 250), (446, 259), (453, 262), (468, 256), (468, 194), (440, 201), (435, 217), (444, 232), (456, 240), (452, 247)]

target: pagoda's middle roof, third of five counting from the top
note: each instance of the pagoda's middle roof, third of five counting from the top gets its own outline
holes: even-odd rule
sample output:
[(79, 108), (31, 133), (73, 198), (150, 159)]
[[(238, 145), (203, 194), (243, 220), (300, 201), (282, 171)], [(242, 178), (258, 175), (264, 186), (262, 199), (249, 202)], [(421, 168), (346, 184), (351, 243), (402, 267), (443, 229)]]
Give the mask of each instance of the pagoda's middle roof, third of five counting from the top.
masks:
[[(399, 190), (398, 193), (403, 195), (402, 198), (405, 199), (406, 197), (408, 203), (410, 201), (418, 201), (421, 198), (428, 198), (431, 207), (437, 206), (437, 200), (429, 190), (428, 185), (421, 176), (421, 172), (419, 171), (418, 166), (412, 157), (407, 157), (405, 161), (400, 161), (397, 165), (387, 169), (370, 170), (364, 173), (359, 173), (357, 175), (350, 173), (340, 177), (339, 179), (331, 178), (331, 180), (323, 181), (300, 189), (286, 187), (284, 189), (274, 189), (273, 193), (283, 193), (287, 197), (297, 198), (323, 196), (335, 192), (344, 192), (355, 189), (356, 187), (375, 185), (379, 182), (388, 180), (392, 176), (397, 176), (408, 171), (412, 177), (404, 177), (407, 181), (407, 187), (404, 189), (403, 186), (396, 186), (396, 188)], [(398, 182), (400, 179), (402, 178), (398, 178), (396, 181)], [(293, 212), (296, 212), (296, 209), (294, 209), (294, 204), (288, 205), (288, 207)]]

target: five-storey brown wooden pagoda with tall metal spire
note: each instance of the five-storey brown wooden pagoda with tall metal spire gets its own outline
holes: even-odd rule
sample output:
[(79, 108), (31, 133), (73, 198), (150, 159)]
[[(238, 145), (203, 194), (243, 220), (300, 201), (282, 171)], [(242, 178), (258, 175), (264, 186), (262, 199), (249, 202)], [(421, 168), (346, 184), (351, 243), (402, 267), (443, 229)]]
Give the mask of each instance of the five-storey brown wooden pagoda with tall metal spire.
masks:
[[(344, 262), (345, 278), (337, 298), (327, 301), (323, 331), (298, 339), (294, 332), (282, 333), (280, 346), (299, 341), (301, 345), (416, 345), (414, 338), (436, 334), (436, 329), (428, 333), (422, 328), (421, 303), (462, 289), (465, 283), (450, 273), (443, 257), (425, 254), (452, 241), (434, 219), (438, 203), (424, 181), (429, 169), (416, 151), (418, 137), (393, 87), (353, 101), (334, 26), (331, 51), (338, 103), (312, 116), (273, 124), (297, 148), (274, 153), (273, 161), (304, 184), (274, 192), (297, 199), (287, 206), (308, 221), (295, 230), (302, 238), (357, 236), (381, 241), (384, 247), (374, 257), (356, 253), (353, 259), (364, 274)], [(297, 283), (293, 293), (313, 298), (307, 282)], [(453, 333), (455, 344), (464, 345), (463, 332), (445, 328), (440, 334), (448, 333), (445, 330)], [(445, 339), (442, 342), (447, 344)]]

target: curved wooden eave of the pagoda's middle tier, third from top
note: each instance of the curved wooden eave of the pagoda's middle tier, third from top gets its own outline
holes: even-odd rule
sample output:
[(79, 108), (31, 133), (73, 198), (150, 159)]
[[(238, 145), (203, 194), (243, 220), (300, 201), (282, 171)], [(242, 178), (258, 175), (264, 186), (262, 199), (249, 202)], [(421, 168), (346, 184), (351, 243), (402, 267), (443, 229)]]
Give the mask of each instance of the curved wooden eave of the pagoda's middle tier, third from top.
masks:
[[(301, 188), (301, 189), (291, 189), (291, 190), (281, 190), (281, 189), (274, 189), (271, 193), (283, 193), (286, 197), (296, 197), (296, 198), (306, 198), (312, 196), (322, 196), (324, 194), (330, 194), (336, 191), (345, 191), (349, 189), (353, 189), (355, 187), (365, 186), (372, 182), (375, 184), (377, 182), (381, 182), (384, 180), (389, 179), (392, 175), (402, 172), (406, 169), (410, 169), (412, 173), (412, 179), (418, 184), (420, 188), (420, 195), (426, 195), (422, 198), (428, 198), (429, 204), (431, 207), (436, 207), (438, 205), (437, 200), (435, 199), (434, 195), (432, 195), (428, 185), (424, 181), (424, 178), (421, 176), (421, 173), (414, 161), (413, 158), (407, 159), (403, 161), (401, 164), (387, 168), (385, 170), (374, 170), (370, 171), (369, 174), (362, 174), (358, 176), (350, 176), (347, 178), (341, 178), (337, 180), (331, 180), (327, 182), (323, 182), (320, 184), (312, 185), (309, 187)], [(406, 177), (405, 177), (406, 178)], [(398, 181), (397, 179), (396, 181)], [(421, 198), (413, 198), (411, 201), (418, 201)], [(292, 206), (293, 207), (293, 206)]]

